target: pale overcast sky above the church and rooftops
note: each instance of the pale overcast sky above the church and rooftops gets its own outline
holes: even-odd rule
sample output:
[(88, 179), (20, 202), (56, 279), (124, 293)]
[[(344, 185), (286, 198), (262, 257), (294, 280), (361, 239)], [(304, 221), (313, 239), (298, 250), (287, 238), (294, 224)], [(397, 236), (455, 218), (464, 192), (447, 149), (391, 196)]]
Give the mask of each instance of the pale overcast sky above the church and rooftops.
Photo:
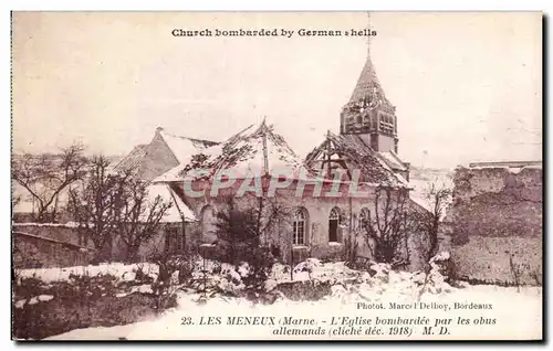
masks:
[[(373, 13), (399, 155), (427, 167), (541, 160), (539, 13)], [(340, 111), (366, 38), (175, 38), (176, 28), (364, 29), (366, 13), (15, 13), (13, 147), (126, 153), (157, 126), (225, 140), (267, 116), (301, 156)]]

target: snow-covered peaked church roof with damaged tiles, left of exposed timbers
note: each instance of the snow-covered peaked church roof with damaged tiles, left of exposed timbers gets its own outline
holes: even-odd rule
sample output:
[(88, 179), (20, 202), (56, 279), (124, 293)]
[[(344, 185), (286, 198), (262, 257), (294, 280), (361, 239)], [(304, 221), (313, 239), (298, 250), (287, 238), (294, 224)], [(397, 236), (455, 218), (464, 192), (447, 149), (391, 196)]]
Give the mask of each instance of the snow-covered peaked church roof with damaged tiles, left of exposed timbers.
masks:
[(298, 174), (305, 169), (303, 160), (295, 155), (284, 138), (265, 121), (257, 128), (250, 126), (227, 141), (189, 155), (187, 162), (161, 174), (155, 182), (182, 180), (192, 171), (205, 170), (211, 177), (225, 170), (230, 178), (240, 179), (251, 174), (286, 172)]

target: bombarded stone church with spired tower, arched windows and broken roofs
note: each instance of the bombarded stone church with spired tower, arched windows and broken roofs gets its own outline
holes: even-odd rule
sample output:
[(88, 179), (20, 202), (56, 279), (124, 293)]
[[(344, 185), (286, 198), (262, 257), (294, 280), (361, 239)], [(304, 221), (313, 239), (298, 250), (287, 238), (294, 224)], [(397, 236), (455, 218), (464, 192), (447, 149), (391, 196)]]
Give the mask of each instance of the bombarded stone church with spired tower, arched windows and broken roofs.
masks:
[[(409, 163), (398, 156), (397, 125), (395, 107), (385, 96), (368, 52), (353, 94), (340, 115), (340, 132), (328, 131), (305, 159), (290, 148), (273, 126), (263, 121), (223, 142), (202, 145), (153, 182), (167, 184), (198, 219), (198, 227), (187, 243), (217, 245), (217, 213), (226, 211), (229, 198), (248, 208), (255, 199), (267, 196), (265, 188), (261, 194), (238, 196), (244, 182), (251, 181), (248, 174), (260, 174), (267, 182), (271, 182), (275, 172), (289, 178), (292, 174), (290, 183), (274, 192), (274, 199), (288, 209), (288, 217), (274, 221), (263, 240), (279, 247), (284, 260), (342, 258), (352, 243), (357, 256), (372, 259), (373, 245), (365, 225), (367, 217), (382, 211), (383, 198), (378, 195), (382, 189), (407, 194), (405, 206), (409, 211), (426, 211), (408, 198)], [(343, 174), (338, 180), (336, 171)], [(232, 185), (225, 189), (226, 195), (213, 195), (215, 178), (221, 172)], [(191, 182), (189, 187), (195, 194), (201, 195), (190, 196), (187, 181)], [(326, 193), (331, 189), (348, 189), (353, 182), (368, 195), (352, 196), (347, 191), (340, 196), (313, 195), (317, 189)], [(298, 195), (300, 188), (303, 192)], [(422, 233), (409, 235), (405, 243), (409, 256), (406, 269), (422, 267), (426, 242)]]

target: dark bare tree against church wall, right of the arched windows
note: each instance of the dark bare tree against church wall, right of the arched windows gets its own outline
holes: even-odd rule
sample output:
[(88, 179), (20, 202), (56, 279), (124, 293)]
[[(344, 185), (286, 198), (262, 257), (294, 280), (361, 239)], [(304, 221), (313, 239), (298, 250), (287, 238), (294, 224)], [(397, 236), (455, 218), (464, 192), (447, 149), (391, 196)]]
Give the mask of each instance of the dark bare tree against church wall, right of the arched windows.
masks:
[(373, 258), (393, 267), (409, 263), (408, 238), (420, 219), (408, 205), (405, 189), (378, 187), (375, 190), (374, 211), (364, 219), (364, 236)]

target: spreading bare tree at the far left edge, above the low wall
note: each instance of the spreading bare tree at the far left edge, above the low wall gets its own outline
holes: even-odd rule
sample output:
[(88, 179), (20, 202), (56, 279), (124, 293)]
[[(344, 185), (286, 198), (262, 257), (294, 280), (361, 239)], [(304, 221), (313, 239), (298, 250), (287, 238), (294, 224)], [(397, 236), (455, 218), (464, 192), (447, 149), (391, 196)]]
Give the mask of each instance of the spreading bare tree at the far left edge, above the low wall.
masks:
[(84, 147), (73, 143), (60, 155), (24, 153), (12, 162), (12, 179), (23, 187), (36, 204), (34, 220), (55, 222), (61, 192), (85, 174)]

